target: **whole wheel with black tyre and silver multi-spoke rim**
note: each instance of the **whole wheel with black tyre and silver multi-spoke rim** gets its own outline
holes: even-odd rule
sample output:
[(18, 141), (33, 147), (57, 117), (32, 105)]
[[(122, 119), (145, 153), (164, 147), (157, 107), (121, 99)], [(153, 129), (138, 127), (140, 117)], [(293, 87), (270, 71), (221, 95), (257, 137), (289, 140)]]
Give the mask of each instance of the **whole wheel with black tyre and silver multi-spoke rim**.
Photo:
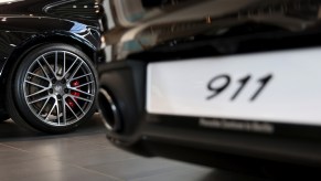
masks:
[(14, 65), (7, 107), (23, 127), (65, 134), (93, 116), (96, 94), (92, 60), (77, 47), (52, 43), (29, 51)]

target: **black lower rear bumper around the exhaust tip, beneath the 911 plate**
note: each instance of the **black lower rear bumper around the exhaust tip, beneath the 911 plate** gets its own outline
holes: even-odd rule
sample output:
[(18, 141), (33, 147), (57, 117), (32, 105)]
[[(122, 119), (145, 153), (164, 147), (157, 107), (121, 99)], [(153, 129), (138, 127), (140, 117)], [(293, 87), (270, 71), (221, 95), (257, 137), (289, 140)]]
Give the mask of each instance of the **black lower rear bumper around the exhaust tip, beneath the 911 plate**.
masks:
[(100, 87), (113, 95), (120, 113), (121, 130), (107, 132), (107, 138), (118, 147), (143, 156), (229, 169), (270, 161), (321, 166), (320, 127), (261, 123), (272, 128), (270, 132), (205, 128), (197, 117), (148, 114), (146, 67), (147, 63), (139, 61), (113, 62), (99, 67)]

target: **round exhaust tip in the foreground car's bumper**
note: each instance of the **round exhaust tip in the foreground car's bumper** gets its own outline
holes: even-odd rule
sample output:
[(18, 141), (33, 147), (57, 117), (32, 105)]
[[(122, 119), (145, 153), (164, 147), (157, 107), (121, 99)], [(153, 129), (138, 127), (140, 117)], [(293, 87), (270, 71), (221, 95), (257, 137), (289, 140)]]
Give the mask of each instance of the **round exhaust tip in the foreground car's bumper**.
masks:
[(110, 131), (119, 131), (121, 128), (119, 110), (111, 96), (104, 88), (98, 92), (98, 106), (106, 128)]

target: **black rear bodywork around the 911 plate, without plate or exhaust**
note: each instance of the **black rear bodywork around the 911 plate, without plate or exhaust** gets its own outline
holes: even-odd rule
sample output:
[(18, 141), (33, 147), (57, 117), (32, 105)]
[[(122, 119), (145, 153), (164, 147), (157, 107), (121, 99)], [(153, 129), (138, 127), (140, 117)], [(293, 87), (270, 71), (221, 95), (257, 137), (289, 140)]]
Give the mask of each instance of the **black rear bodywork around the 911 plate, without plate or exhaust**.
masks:
[[(115, 15), (114, 26), (105, 24), (110, 30), (105, 32), (105, 53), (113, 55), (99, 67), (100, 85), (122, 118), (121, 130), (108, 130), (109, 140), (143, 156), (228, 169), (250, 166), (261, 171), (271, 162), (320, 168), (320, 127), (272, 124), (269, 135), (203, 128), (200, 118), (148, 114), (146, 71), (156, 61), (320, 46), (321, 0), (151, 1), (143, 0), (145, 13)], [(117, 12), (117, 3), (108, 2)], [(158, 11), (149, 13), (153, 8)]]

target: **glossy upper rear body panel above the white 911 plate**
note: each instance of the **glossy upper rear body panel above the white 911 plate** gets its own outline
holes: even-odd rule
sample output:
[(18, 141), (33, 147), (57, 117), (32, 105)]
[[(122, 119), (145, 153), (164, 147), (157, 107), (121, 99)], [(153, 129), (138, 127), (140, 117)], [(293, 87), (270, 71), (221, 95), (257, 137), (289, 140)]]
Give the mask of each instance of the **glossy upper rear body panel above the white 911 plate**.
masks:
[[(233, 35), (238, 36), (238, 40), (234, 41), (246, 41), (244, 40), (247, 39), (246, 35), (250, 35), (250, 39), (260, 39), (265, 31), (270, 35), (270, 32), (274, 31), (274, 39), (277, 39), (278, 35), (287, 34), (290, 36), (291, 34), (313, 32), (320, 28), (317, 7), (321, 2), (318, 0), (203, 0), (197, 2), (183, 0), (164, 2), (172, 2), (173, 6), (149, 8), (143, 7), (140, 0), (135, 2), (105, 1), (105, 4), (109, 4), (105, 6), (106, 9), (108, 8), (106, 11), (114, 10), (114, 17), (116, 17), (114, 20), (107, 21), (109, 26), (105, 25), (109, 30), (105, 34), (106, 42), (110, 44), (108, 54), (111, 53), (113, 57), (117, 57), (116, 60), (124, 60), (130, 54), (154, 49), (163, 43), (172, 43), (172, 46), (178, 46), (180, 40), (186, 43), (189, 39), (192, 39), (190, 41), (195, 43), (202, 39), (224, 39)], [(138, 12), (126, 11), (131, 3), (140, 4), (139, 10), (136, 11), (141, 12), (141, 15), (135, 21), (128, 17), (130, 13), (136, 17)], [(110, 25), (110, 21), (114, 22), (114, 25)], [(248, 30), (238, 31), (242, 25), (248, 26)], [(248, 34), (250, 31), (255, 34)], [(226, 41), (228, 39), (224, 39), (223, 43), (228, 43)], [(218, 41), (213, 43), (216, 42), (223, 44)], [(232, 44), (235, 46), (236, 43), (232, 42)]]

